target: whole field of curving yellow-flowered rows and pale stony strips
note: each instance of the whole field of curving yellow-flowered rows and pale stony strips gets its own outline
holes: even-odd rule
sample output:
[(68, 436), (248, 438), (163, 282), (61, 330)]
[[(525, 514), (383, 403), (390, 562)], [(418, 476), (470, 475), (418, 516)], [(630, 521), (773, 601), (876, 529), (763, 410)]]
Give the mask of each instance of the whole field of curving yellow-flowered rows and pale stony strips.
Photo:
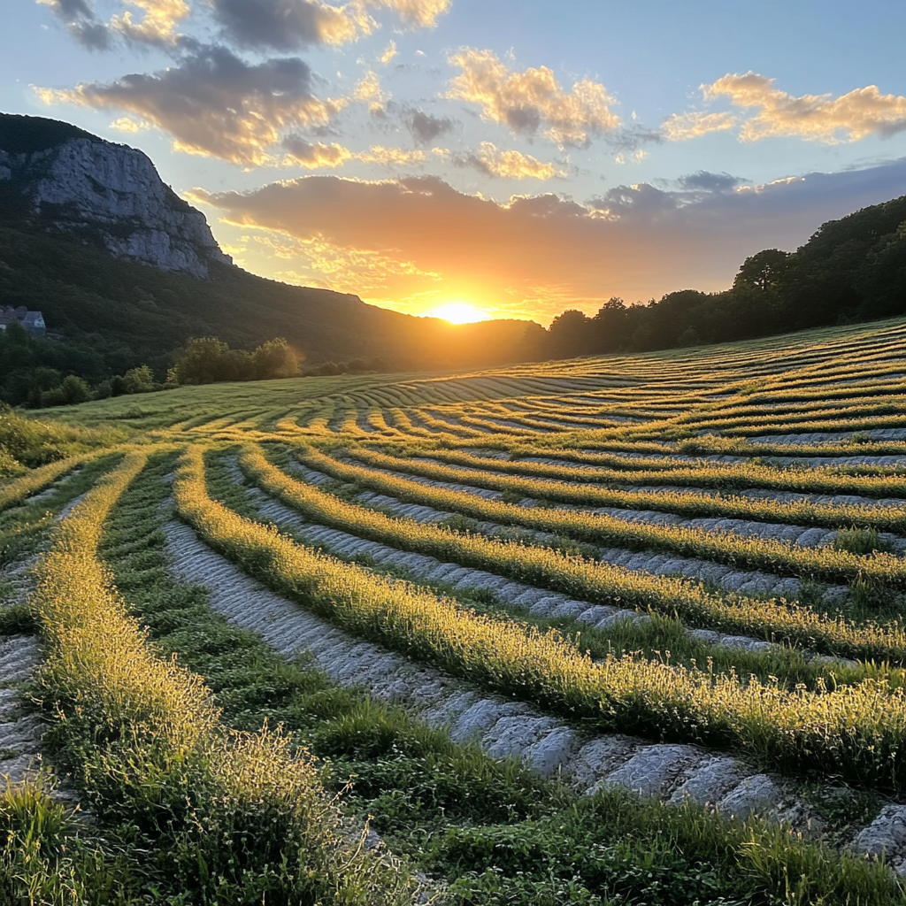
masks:
[(906, 902), (904, 343), (42, 412), (0, 901)]

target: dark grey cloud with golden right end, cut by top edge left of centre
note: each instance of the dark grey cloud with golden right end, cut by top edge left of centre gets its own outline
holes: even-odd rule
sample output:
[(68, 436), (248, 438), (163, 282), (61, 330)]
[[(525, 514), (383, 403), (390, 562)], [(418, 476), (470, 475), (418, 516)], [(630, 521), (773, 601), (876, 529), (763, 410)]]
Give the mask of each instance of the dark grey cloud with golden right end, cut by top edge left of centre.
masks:
[(322, 0), (211, 0), (224, 34), (240, 47), (295, 50), (307, 44), (342, 44), (370, 34), (364, 10)]

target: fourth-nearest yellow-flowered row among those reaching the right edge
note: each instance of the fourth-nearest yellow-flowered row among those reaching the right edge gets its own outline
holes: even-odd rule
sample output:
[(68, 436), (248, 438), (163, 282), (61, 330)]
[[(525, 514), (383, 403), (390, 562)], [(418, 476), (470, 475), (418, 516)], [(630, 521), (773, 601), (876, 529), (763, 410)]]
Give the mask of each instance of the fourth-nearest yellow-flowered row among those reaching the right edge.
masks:
[[(487, 487), (520, 496), (577, 506), (612, 506), (620, 509), (647, 509), (661, 513), (675, 513), (679, 516), (716, 516), (718, 518), (747, 519), (757, 522), (783, 523), (786, 525), (820, 525), (827, 528), (842, 528), (850, 525), (863, 525), (882, 531), (902, 531), (906, 527), (906, 500), (902, 506), (870, 506), (863, 504), (814, 504), (808, 500), (782, 501), (769, 497), (746, 496), (708, 496), (702, 494), (683, 494), (674, 491), (638, 491), (618, 488), (596, 487), (587, 482), (587, 471), (576, 469), (580, 477), (573, 480), (585, 481), (577, 486), (568, 480), (547, 479), (545, 472), (554, 472), (557, 467), (541, 466), (537, 463), (525, 463), (528, 476), (521, 474), (496, 475), (495, 465), (488, 467), (487, 462), (477, 457), (466, 457), (464, 454), (441, 453), (436, 458), (456, 462), (467, 466), (457, 469), (439, 466), (433, 463), (418, 462), (410, 458), (376, 454), (368, 450), (354, 451), (356, 458), (381, 467), (393, 468), (396, 471), (409, 472), (439, 481), (458, 482), (475, 487)], [(390, 465), (392, 463), (392, 465)], [(491, 460), (495, 463), (495, 460)], [(503, 465), (506, 465), (503, 464)], [(512, 466), (512, 464), (510, 464)], [(535, 469), (533, 466), (539, 466)], [(520, 471), (522, 471), (520, 469)], [(564, 471), (566, 471), (564, 469)], [(538, 481), (535, 477), (545, 477)], [(668, 480), (672, 479), (672, 475)], [(625, 479), (624, 479), (625, 480)], [(663, 480), (663, 478), (661, 478)]]

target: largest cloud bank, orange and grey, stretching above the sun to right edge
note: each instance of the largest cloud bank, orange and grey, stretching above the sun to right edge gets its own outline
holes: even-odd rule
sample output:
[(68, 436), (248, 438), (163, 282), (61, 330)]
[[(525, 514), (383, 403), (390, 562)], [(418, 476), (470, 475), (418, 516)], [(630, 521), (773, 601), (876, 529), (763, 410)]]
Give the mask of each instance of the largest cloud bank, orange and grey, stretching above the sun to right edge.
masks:
[[(553, 317), (564, 306), (593, 313), (611, 295), (634, 302), (726, 288), (747, 255), (795, 248), (824, 220), (900, 193), (906, 159), (745, 190), (731, 188), (733, 179), (698, 173), (675, 190), (620, 186), (588, 204), (550, 193), (500, 203), (428, 176), (309, 176), (245, 194), (199, 190), (196, 198), (246, 231), (314, 243), (336, 260), (409, 263), (407, 273), (374, 275), (362, 290), (373, 302), (420, 312), (460, 298)], [(312, 261), (306, 279), (332, 285), (335, 273), (318, 275)], [(275, 267), (264, 256), (254, 265), (265, 273)]]

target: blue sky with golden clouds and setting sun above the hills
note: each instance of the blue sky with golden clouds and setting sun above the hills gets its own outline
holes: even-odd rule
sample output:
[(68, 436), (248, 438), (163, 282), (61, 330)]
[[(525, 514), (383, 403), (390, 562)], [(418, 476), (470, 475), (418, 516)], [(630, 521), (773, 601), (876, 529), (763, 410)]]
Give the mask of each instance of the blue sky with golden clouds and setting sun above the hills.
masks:
[(143, 150), (236, 264), (454, 320), (727, 288), (906, 193), (906, 5), (7, 0), (0, 111)]

